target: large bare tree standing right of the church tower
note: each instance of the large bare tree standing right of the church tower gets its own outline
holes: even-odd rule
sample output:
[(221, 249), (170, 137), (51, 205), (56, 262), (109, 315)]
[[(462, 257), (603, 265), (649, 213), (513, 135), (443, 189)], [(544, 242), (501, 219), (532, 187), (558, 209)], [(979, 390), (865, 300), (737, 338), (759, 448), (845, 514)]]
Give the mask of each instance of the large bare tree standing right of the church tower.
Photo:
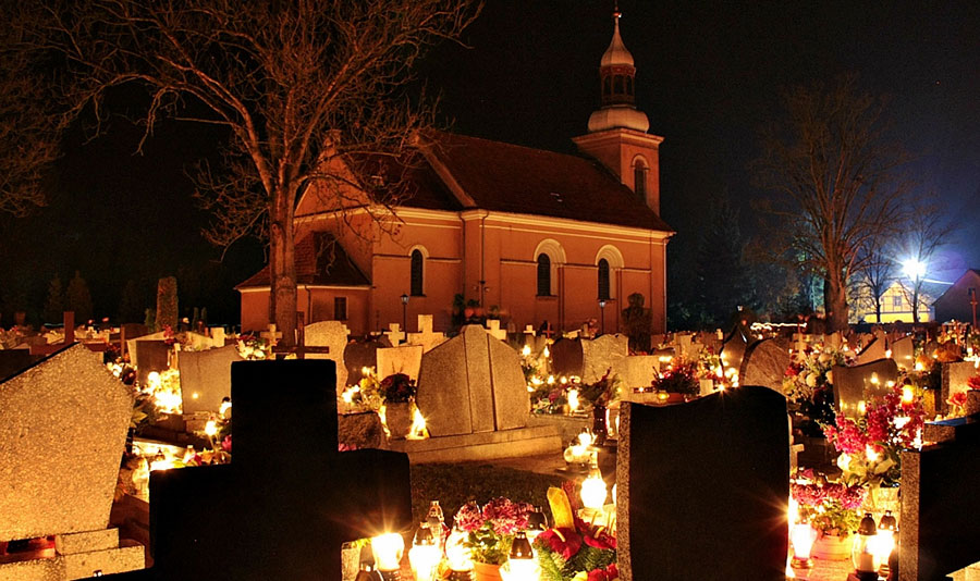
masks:
[(861, 92), (853, 76), (833, 87), (796, 87), (784, 95), (788, 116), (762, 134), (755, 168), (775, 196), (784, 248), (823, 279), (829, 331), (847, 327), (847, 288), (868, 263), (861, 249), (901, 218), (904, 156), (883, 139), (880, 99)]

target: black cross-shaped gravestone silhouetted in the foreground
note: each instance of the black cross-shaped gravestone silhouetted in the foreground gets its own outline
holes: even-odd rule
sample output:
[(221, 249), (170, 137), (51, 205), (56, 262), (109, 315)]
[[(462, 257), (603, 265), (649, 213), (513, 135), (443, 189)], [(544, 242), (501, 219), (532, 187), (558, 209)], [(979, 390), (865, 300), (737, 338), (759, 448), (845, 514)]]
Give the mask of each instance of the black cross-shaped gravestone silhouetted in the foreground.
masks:
[(341, 580), (345, 541), (411, 526), (408, 457), (338, 452), (330, 360), (232, 364), (231, 465), (154, 472), (154, 567), (120, 580)]

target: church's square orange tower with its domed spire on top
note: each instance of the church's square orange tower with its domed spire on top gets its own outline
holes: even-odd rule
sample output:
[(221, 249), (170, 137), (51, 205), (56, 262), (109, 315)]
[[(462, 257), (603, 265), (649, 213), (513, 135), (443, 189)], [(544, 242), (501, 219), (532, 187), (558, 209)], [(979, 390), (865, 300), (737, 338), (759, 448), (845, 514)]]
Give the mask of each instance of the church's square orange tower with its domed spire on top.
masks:
[(636, 67), (620, 37), (618, 10), (613, 38), (599, 62), (600, 108), (589, 116), (589, 133), (573, 138), (578, 150), (597, 159), (660, 215), (660, 143), (647, 133), (650, 122), (636, 109)]

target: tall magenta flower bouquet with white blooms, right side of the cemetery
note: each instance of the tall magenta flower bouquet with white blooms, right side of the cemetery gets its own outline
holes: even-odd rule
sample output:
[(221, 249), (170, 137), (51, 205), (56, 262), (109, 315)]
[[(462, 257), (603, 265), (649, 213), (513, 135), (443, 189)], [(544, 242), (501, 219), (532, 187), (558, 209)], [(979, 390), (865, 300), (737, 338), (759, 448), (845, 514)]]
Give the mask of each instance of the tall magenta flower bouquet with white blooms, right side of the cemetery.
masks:
[(823, 431), (841, 456), (837, 466), (848, 483), (897, 483), (903, 448), (921, 447), (926, 411), (909, 385), (895, 385), (873, 398), (857, 419), (837, 416)]

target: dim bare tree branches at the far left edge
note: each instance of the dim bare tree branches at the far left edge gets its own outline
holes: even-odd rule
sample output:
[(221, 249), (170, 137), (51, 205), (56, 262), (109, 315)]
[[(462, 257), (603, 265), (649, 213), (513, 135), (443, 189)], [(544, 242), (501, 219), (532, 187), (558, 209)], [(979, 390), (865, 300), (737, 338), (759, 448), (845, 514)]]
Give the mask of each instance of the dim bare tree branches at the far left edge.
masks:
[(19, 22), (21, 7), (0, 7), (0, 212), (22, 217), (45, 205), (44, 177), (58, 158), (61, 119), (45, 87), (38, 53)]

